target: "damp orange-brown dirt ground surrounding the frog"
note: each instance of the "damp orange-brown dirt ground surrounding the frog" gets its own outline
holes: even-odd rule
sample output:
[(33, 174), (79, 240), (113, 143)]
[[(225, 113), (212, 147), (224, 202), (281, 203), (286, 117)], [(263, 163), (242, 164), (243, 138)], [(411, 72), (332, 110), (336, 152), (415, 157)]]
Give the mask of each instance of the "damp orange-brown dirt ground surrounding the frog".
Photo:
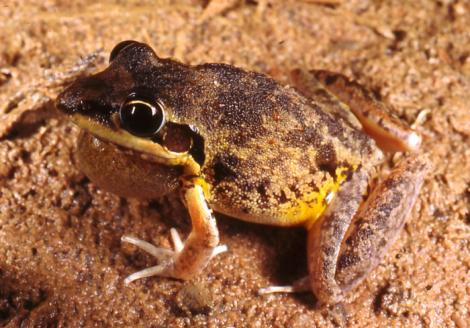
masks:
[[(37, 3), (0, 5), (0, 326), (469, 326), (470, 2)], [(76, 168), (78, 128), (53, 100), (125, 39), (282, 83), (299, 67), (342, 72), (423, 136), (433, 169), (408, 223), (341, 306), (318, 307), (309, 293), (258, 296), (306, 274), (306, 234), (221, 215), (229, 251), (197, 278), (124, 285), (156, 263), (121, 236), (170, 247), (171, 227), (190, 231), (186, 212), (175, 195), (143, 202), (90, 182)]]

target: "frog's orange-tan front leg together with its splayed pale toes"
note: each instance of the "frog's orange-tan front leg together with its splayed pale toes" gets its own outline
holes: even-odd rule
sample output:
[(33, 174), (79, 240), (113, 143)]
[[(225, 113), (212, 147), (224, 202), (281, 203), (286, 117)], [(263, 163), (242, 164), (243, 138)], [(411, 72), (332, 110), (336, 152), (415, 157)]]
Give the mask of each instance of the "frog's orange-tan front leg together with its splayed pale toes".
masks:
[(172, 229), (174, 251), (155, 247), (134, 237), (122, 238), (122, 241), (136, 245), (161, 262), (159, 265), (131, 274), (126, 278), (126, 284), (150, 276), (191, 279), (205, 268), (213, 256), (227, 250), (225, 245), (218, 246), (217, 224), (207, 206), (202, 187), (189, 183), (184, 188), (183, 198), (191, 217), (192, 230), (186, 242), (182, 243), (176, 230)]

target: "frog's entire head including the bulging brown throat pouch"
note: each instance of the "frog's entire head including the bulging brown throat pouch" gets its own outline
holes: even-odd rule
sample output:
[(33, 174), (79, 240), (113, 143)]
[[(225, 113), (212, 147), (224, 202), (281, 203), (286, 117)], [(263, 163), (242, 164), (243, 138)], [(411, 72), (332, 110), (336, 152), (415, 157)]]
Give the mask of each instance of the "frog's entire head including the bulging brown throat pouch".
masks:
[(116, 45), (109, 61), (104, 71), (78, 79), (56, 101), (85, 131), (78, 144), (81, 169), (105, 189), (147, 198), (174, 189), (183, 174), (198, 175), (202, 138), (173, 120), (170, 104), (184, 85), (178, 72), (187, 66), (158, 58), (136, 41)]

